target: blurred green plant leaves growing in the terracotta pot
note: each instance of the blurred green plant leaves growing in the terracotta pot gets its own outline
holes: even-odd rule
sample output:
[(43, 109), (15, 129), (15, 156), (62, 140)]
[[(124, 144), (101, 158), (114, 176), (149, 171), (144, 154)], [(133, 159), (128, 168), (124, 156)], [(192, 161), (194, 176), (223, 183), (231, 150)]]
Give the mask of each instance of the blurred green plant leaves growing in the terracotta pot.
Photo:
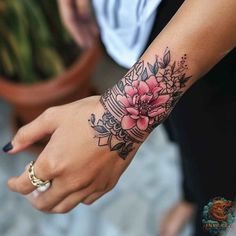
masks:
[(1, 76), (22, 83), (53, 78), (78, 51), (56, 0), (0, 0)]

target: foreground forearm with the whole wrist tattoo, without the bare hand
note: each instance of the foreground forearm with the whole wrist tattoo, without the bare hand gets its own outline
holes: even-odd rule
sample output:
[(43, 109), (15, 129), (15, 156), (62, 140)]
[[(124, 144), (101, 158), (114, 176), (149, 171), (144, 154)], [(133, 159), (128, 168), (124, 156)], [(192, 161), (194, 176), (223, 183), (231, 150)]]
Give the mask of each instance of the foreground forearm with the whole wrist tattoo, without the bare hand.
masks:
[(99, 122), (95, 115), (90, 119), (98, 144), (125, 158), (142, 143), (184, 92), (235, 46), (235, 9), (233, 0), (214, 6), (210, 0), (186, 1), (140, 60), (101, 96), (105, 112)]

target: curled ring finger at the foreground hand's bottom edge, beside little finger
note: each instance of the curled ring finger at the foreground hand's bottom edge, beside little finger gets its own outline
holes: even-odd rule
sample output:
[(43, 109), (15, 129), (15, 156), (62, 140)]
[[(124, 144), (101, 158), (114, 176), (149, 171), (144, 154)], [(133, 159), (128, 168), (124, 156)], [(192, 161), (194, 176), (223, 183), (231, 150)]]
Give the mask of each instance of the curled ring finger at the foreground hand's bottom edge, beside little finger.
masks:
[(88, 195), (92, 194), (94, 189), (90, 186), (79, 192), (75, 192), (61, 201), (50, 210), (50, 213), (67, 213), (83, 201)]

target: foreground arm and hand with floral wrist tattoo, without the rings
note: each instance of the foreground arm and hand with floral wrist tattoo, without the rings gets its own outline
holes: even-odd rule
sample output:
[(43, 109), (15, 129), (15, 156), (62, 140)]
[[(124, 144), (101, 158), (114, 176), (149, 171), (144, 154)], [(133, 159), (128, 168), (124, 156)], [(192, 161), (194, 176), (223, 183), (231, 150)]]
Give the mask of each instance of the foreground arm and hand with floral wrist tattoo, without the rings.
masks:
[[(185, 1), (113, 88), (101, 97), (51, 108), (21, 128), (9, 153), (51, 134), (35, 171), (52, 180), (52, 187), (30, 198), (31, 203), (42, 211), (61, 213), (111, 190), (183, 93), (235, 47), (235, 10), (235, 0)], [(8, 184), (21, 194), (35, 189), (27, 171)]]

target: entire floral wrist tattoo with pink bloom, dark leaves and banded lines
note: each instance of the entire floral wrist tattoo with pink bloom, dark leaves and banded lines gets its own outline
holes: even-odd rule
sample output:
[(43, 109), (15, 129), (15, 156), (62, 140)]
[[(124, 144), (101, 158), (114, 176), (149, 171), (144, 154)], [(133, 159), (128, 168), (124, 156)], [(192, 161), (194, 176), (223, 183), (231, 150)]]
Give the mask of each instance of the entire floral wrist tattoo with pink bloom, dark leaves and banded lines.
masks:
[(171, 61), (166, 48), (153, 64), (136, 62), (129, 72), (100, 99), (105, 113), (100, 119), (91, 114), (90, 126), (98, 146), (108, 146), (122, 159), (167, 118), (191, 78), (186, 75), (187, 56)]

